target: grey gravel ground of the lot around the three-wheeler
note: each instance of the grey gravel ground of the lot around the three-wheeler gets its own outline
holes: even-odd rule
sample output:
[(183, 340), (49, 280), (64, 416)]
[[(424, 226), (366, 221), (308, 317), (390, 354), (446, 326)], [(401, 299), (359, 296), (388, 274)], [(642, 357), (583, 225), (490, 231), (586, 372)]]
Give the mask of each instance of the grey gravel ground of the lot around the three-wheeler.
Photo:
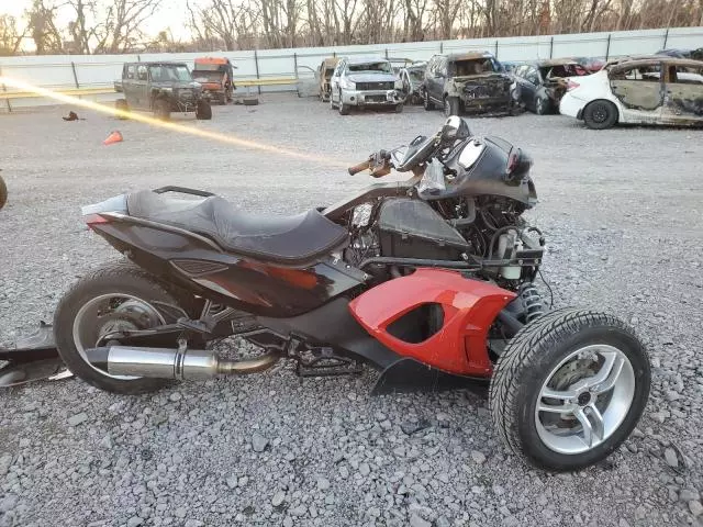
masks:
[[(0, 344), (115, 257), (81, 228), (79, 205), (170, 183), (295, 212), (367, 184), (342, 167), (443, 121), (420, 108), (341, 117), (284, 96), (176, 120), (321, 157), (304, 160), (67, 112), (0, 115)], [(0, 394), (0, 526), (703, 525), (701, 132), (532, 114), (471, 126), (535, 158), (531, 220), (548, 236), (555, 304), (614, 312), (651, 351), (646, 414), (607, 462), (529, 469), (500, 444), (484, 399), (371, 397), (371, 373), (300, 380), (281, 366), (140, 397), (71, 380)], [(124, 143), (102, 146), (115, 128)]]

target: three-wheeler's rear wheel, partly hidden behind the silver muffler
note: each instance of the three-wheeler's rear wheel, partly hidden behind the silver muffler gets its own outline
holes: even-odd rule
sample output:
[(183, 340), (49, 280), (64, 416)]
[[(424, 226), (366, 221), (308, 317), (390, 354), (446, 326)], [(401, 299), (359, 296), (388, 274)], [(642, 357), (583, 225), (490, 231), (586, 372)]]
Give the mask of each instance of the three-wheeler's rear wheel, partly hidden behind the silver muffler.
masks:
[(171, 384), (166, 379), (110, 375), (93, 367), (85, 354), (108, 333), (164, 324), (158, 302), (178, 305), (171, 293), (138, 267), (119, 262), (97, 269), (62, 298), (54, 313), (59, 356), (75, 375), (108, 392), (138, 394)]

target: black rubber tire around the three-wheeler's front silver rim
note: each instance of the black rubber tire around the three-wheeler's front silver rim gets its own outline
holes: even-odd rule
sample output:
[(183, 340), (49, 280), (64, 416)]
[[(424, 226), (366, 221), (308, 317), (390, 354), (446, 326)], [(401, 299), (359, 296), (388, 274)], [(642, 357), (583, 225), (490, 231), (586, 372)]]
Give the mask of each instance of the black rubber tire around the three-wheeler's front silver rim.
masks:
[[(593, 344), (614, 346), (629, 360), (633, 400), (623, 422), (600, 445), (581, 453), (560, 453), (537, 431), (540, 389), (569, 354)], [(507, 447), (529, 463), (555, 471), (582, 469), (606, 458), (629, 436), (647, 403), (650, 378), (647, 352), (627, 324), (605, 313), (557, 310), (523, 327), (501, 354), (490, 388), (493, 424)]]

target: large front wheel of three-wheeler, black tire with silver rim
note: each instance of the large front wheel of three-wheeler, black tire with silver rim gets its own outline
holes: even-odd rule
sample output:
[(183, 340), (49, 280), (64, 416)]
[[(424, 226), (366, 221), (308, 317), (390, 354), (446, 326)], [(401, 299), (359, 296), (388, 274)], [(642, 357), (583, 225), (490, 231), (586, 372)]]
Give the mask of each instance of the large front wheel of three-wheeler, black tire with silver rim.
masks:
[[(607, 356), (614, 357), (610, 368)], [(616, 360), (622, 360), (620, 369)], [(596, 381), (601, 372), (605, 377)], [(529, 463), (582, 469), (606, 458), (629, 436), (647, 403), (650, 375), (647, 352), (624, 322), (593, 311), (557, 310), (523, 327), (501, 354), (491, 379), (493, 423), (506, 446)], [(559, 385), (547, 385), (557, 380)], [(576, 395), (546, 396), (546, 390)], [(555, 400), (561, 405), (554, 405)], [(537, 412), (537, 404), (547, 410)], [(568, 407), (582, 412), (589, 430), (592, 426), (588, 437), (583, 421), (563, 410)]]

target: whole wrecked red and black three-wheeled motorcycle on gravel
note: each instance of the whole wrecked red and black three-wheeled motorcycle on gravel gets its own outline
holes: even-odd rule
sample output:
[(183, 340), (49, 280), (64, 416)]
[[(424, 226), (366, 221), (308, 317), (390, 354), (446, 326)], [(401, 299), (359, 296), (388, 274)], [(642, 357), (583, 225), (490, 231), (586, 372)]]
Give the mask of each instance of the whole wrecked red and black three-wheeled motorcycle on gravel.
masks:
[[(406, 181), (292, 216), (175, 187), (85, 206), (85, 222), (126, 262), (66, 293), (58, 351), (76, 375), (122, 394), (280, 359), (300, 375), (366, 362), (380, 371), (377, 392), (490, 384), (495, 427), (514, 452), (553, 470), (587, 467), (635, 427), (650, 367), (621, 319), (544, 301), (545, 237), (523, 217), (537, 200), (531, 167), (521, 148), (450, 116), (349, 169), (394, 169)], [(231, 336), (261, 354), (209, 348)]]

